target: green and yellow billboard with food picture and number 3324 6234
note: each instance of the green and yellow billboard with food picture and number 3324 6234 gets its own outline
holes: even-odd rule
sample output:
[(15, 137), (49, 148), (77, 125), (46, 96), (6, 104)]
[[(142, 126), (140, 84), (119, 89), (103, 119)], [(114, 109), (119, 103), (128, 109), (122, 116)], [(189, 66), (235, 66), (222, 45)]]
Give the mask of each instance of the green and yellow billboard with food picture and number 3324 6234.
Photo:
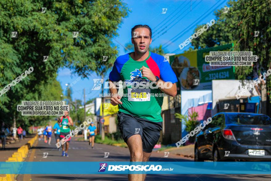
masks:
[(209, 66), (204, 59), (210, 51), (231, 51), (232, 47), (228, 44), (170, 56), (178, 78), (177, 90), (212, 90), (212, 80), (234, 79), (233, 66)]

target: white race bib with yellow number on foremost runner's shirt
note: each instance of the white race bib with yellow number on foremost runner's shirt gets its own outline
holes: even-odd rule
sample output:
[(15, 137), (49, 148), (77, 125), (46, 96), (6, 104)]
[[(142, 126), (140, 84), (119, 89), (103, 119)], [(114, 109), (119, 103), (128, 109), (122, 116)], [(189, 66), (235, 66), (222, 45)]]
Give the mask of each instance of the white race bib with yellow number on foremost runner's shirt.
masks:
[(150, 101), (150, 88), (128, 88), (128, 101)]

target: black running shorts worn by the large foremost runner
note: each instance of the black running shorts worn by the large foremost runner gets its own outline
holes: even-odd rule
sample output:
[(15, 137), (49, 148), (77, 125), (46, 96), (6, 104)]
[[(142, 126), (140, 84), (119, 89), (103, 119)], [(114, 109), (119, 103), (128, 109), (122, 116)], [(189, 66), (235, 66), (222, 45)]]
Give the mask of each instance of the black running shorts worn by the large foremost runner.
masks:
[(149, 121), (123, 112), (118, 112), (117, 116), (123, 140), (127, 143), (132, 135), (140, 134), (143, 151), (151, 153), (160, 138), (162, 122)]

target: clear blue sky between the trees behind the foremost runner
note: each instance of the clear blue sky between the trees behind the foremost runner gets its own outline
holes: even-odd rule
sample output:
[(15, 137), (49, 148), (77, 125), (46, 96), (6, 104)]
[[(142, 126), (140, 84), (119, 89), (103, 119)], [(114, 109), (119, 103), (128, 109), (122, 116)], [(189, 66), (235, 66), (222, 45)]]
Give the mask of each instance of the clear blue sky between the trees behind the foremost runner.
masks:
[[(117, 30), (119, 36), (115, 39), (125, 45), (131, 41), (131, 28), (137, 24), (147, 24), (152, 28), (152, 47), (160, 44), (166, 47), (166, 53), (177, 50), (180, 43), (193, 34), (196, 25), (206, 24), (215, 18), (214, 10), (226, 7), (227, 0), (124, 0), (131, 10), (129, 15), (123, 19)], [(192, 5), (192, 6), (191, 6)], [(167, 12), (162, 14), (162, 8)], [(163, 21), (163, 22), (162, 22)], [(162, 22), (162, 23), (161, 23)], [(164, 34), (163, 34), (164, 33)], [(163, 34), (163, 35), (162, 35)], [(180, 36), (182, 35), (182, 36)], [(180, 37), (179, 37), (180, 36)], [(174, 42), (172, 42), (175, 40)], [(193, 41), (193, 40), (192, 40)], [(167, 43), (167, 42), (172, 42)], [(118, 47), (118, 56), (126, 54), (124, 48), (113, 40)], [(177, 54), (187, 50), (191, 44), (176, 51)], [(58, 71), (57, 80), (60, 82), (66, 94), (65, 84), (72, 83), (79, 76), (72, 74), (68, 68), (61, 68)], [(93, 79), (99, 79), (95, 73), (90, 72), (89, 79), (81, 79), (71, 87), (72, 98), (83, 101), (83, 89), (86, 89), (86, 101), (99, 97), (100, 91), (91, 91)]]

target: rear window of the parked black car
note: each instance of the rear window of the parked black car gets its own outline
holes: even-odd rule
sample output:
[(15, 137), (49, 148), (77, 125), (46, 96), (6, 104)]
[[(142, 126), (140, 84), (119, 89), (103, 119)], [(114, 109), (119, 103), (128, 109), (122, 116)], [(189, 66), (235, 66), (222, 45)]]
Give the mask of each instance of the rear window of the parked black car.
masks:
[(240, 125), (270, 125), (270, 117), (265, 115), (228, 114), (229, 123)]

